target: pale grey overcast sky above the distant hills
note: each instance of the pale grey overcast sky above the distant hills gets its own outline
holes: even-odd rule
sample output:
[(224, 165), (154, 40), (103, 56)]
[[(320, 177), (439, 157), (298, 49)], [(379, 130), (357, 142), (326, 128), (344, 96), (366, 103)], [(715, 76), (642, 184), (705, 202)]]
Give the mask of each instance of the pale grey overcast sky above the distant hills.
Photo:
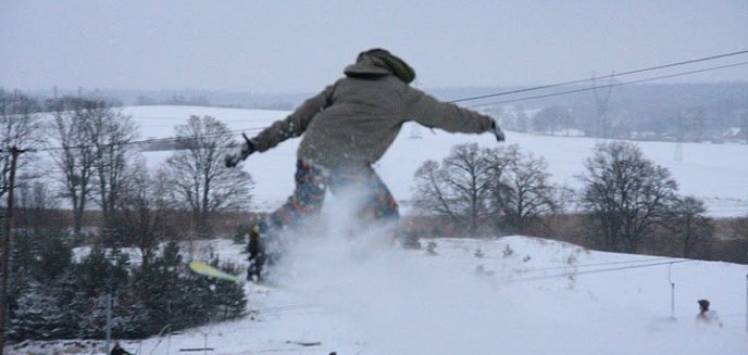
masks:
[(426, 88), (544, 85), (748, 50), (748, 0), (0, 1), (5, 88), (312, 92), (372, 47)]

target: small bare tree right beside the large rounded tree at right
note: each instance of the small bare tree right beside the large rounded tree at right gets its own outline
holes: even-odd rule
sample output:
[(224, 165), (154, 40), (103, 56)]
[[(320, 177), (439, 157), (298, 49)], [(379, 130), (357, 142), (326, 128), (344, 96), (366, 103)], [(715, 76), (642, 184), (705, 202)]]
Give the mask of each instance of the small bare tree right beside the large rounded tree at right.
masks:
[(714, 224), (707, 207), (695, 196), (678, 198), (666, 213), (665, 227), (683, 244), (683, 257), (695, 256), (696, 249), (714, 236)]

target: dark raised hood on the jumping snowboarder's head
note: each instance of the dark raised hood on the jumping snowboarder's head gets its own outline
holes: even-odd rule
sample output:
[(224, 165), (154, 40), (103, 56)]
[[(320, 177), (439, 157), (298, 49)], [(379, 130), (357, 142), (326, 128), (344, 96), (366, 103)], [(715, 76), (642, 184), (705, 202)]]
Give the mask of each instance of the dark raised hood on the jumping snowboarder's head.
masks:
[(415, 72), (408, 63), (383, 49), (361, 52), (356, 63), (348, 65), (344, 73), (349, 77), (395, 75), (407, 84), (415, 79)]

